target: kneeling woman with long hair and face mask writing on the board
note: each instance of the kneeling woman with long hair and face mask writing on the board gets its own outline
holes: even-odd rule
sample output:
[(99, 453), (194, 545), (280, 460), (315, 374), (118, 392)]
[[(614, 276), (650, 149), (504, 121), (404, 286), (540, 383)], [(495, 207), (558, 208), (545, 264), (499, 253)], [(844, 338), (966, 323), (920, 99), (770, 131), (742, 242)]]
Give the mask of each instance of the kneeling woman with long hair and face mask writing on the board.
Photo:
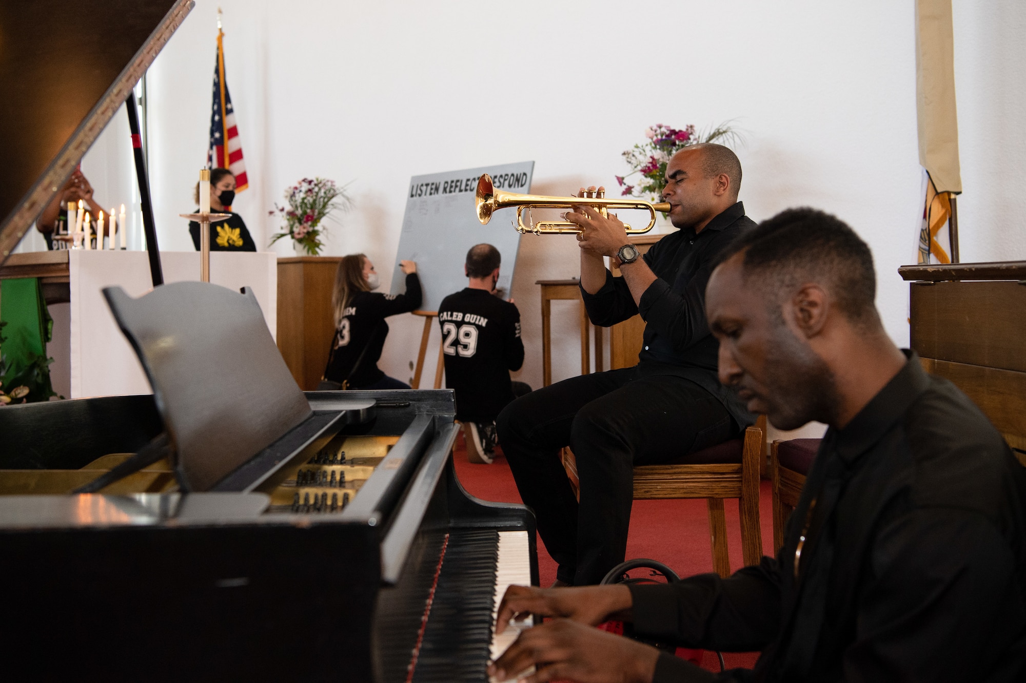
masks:
[(382, 294), (374, 265), (362, 253), (343, 256), (334, 276), (331, 308), (334, 313), (334, 337), (328, 355), (324, 379), (344, 389), (409, 389), (409, 385), (390, 377), (378, 367), (388, 323), (385, 318), (416, 311), (421, 306), (421, 279), (417, 264), (400, 260), (406, 274), (406, 292)]

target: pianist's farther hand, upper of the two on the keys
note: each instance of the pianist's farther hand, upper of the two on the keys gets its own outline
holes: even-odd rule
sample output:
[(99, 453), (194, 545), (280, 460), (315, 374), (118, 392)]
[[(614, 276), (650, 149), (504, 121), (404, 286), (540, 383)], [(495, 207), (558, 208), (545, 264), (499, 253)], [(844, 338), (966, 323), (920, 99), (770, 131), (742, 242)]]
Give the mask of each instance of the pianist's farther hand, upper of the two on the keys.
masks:
[(626, 617), (632, 602), (630, 589), (624, 584), (558, 589), (511, 586), (499, 603), (496, 633), (505, 631), (511, 618), (521, 620), (528, 614), (564, 616), (589, 626), (597, 626), (614, 615), (629, 620)]

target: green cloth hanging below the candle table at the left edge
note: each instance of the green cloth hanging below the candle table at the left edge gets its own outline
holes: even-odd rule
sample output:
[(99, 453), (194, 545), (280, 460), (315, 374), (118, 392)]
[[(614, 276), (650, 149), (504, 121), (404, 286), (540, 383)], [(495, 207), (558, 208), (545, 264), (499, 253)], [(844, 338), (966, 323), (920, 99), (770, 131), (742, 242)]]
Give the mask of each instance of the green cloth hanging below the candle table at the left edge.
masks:
[(0, 280), (0, 381), (4, 391), (25, 385), (27, 400), (46, 401), (54, 396), (50, 386), (46, 343), (53, 320), (46, 310), (38, 278)]

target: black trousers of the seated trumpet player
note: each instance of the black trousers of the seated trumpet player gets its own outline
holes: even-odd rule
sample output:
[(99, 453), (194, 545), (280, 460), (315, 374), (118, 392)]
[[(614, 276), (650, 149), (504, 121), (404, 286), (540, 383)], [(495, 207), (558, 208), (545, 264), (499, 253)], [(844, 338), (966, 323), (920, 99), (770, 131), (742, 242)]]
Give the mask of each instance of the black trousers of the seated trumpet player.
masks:
[[(716, 397), (654, 365), (564, 379), (518, 398), (497, 420), (520, 496), (567, 584), (598, 584), (624, 561), (635, 465), (665, 463), (739, 432)], [(580, 504), (559, 459), (567, 445)]]

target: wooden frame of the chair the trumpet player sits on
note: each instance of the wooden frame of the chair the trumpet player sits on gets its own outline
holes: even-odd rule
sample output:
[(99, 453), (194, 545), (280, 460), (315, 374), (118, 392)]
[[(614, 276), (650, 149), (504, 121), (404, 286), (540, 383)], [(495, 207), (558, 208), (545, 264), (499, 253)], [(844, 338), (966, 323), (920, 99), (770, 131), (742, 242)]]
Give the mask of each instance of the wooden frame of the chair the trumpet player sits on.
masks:
[[(764, 426), (764, 418), (759, 419)], [(707, 498), (713, 568), (720, 576), (731, 574), (726, 549), (726, 518), (723, 498), (738, 498), (741, 510), (741, 549), (745, 565), (762, 557), (759, 527), (759, 460), (763, 459), (763, 430), (749, 427), (744, 439), (683, 455), (666, 465), (634, 468), (634, 499)], [(577, 460), (569, 448), (562, 453), (563, 468), (578, 492)]]

